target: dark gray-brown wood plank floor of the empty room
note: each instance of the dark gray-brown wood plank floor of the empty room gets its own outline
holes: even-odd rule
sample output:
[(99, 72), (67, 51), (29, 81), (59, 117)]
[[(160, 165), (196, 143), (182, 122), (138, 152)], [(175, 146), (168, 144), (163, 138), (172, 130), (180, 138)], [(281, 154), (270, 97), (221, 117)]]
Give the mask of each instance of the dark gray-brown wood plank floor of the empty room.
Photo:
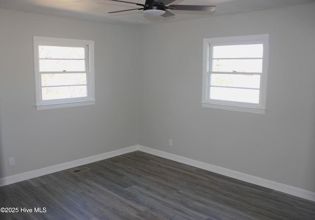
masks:
[(18, 211), (1, 220), (315, 220), (315, 202), (139, 151), (1, 187), (0, 207)]

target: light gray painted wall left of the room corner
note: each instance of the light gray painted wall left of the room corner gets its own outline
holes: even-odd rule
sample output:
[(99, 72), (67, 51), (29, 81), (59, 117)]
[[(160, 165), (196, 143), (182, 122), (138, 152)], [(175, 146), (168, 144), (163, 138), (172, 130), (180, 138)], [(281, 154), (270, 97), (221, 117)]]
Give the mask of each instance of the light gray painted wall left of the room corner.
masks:
[[(34, 35), (95, 41), (95, 105), (35, 110)], [(137, 144), (137, 28), (0, 9), (0, 48), (0, 177)]]

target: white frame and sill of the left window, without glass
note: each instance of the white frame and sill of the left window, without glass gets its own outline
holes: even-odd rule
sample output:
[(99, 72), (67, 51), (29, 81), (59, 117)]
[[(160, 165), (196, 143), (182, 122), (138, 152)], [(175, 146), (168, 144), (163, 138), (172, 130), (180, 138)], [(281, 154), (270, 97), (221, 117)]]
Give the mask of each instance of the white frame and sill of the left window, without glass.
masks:
[[(84, 47), (85, 48), (85, 66), (87, 76), (87, 96), (79, 98), (64, 99), (42, 99), (41, 74), (39, 71), (39, 46), (67, 46), (67, 47)], [(65, 39), (54, 37), (33, 36), (33, 55), (34, 55), (34, 77), (35, 77), (35, 98), (36, 110), (64, 108), (82, 105), (95, 104), (95, 81), (94, 81), (94, 41)]]

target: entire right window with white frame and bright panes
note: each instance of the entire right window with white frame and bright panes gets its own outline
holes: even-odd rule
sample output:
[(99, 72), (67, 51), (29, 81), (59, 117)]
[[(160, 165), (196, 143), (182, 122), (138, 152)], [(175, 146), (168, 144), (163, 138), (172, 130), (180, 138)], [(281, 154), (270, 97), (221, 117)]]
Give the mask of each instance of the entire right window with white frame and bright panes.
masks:
[(265, 113), (268, 34), (204, 39), (202, 106)]

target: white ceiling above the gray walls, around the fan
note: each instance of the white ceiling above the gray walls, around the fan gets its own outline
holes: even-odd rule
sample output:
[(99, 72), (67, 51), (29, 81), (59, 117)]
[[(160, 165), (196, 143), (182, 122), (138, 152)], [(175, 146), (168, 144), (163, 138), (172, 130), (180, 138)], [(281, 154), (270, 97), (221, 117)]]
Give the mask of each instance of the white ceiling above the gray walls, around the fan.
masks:
[[(145, 2), (145, 0), (126, 1), (142, 4)], [(217, 8), (214, 13), (171, 11), (175, 16), (168, 18), (145, 15), (142, 10), (108, 14), (110, 11), (139, 7), (136, 4), (113, 0), (0, 0), (0, 8), (92, 21), (153, 24), (237, 14), (310, 2), (315, 2), (315, 0), (176, 0), (172, 4), (215, 5)]]

